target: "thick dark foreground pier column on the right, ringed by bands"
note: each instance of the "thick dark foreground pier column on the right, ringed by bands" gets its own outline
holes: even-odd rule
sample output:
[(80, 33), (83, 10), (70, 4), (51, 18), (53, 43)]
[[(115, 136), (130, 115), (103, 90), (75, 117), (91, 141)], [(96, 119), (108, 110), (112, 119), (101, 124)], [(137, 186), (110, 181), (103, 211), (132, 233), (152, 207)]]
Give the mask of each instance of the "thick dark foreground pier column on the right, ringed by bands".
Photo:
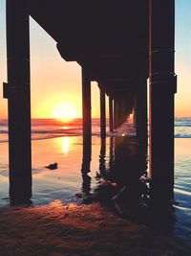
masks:
[(166, 198), (174, 183), (174, 30), (175, 1), (150, 0), (150, 171)]

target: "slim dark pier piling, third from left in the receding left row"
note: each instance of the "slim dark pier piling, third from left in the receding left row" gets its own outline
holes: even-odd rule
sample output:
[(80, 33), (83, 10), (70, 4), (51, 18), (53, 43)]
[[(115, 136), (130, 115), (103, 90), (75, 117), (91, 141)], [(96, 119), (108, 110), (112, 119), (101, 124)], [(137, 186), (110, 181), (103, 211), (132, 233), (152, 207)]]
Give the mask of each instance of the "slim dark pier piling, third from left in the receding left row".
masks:
[(105, 92), (100, 88), (100, 129), (101, 137), (106, 136), (106, 113), (105, 113)]

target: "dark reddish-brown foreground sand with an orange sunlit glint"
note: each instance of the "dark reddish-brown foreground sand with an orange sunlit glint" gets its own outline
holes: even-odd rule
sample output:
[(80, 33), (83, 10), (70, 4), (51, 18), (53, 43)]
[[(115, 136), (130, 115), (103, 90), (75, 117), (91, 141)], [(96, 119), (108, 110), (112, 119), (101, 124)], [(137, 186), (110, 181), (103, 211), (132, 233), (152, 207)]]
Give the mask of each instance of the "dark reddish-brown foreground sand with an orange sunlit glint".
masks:
[[(144, 225), (124, 221), (98, 203), (4, 208), (0, 255), (186, 255), (185, 248)], [(188, 255), (188, 254), (187, 254)]]

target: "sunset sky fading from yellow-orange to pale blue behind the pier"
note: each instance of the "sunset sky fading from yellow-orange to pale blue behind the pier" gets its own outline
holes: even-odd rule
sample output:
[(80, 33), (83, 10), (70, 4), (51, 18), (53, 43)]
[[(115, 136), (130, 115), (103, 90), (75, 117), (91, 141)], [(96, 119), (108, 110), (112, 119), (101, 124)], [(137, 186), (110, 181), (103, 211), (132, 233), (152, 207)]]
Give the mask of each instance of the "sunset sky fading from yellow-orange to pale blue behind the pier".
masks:
[[(7, 81), (5, 3), (6, 0), (0, 0), (0, 118), (2, 119), (7, 118), (7, 99), (3, 99), (2, 96), (2, 82)], [(175, 115), (177, 117), (191, 116), (190, 13), (191, 0), (176, 0), (175, 71), (178, 75), (178, 93), (175, 97)], [(80, 66), (76, 62), (66, 62), (61, 58), (56, 49), (56, 42), (32, 18), (30, 24), (32, 118), (81, 117)], [(97, 105), (99, 91), (96, 82), (92, 82), (92, 96), (92, 115), (99, 117), (99, 104)]]

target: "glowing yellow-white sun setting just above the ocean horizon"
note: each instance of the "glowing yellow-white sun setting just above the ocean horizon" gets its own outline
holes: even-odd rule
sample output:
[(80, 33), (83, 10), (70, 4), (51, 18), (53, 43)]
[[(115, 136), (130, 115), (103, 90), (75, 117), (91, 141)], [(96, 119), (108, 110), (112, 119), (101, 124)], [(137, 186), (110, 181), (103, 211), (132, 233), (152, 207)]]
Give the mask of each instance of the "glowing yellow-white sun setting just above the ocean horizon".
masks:
[(53, 107), (53, 118), (59, 120), (71, 120), (78, 117), (77, 109), (69, 103), (60, 103)]

